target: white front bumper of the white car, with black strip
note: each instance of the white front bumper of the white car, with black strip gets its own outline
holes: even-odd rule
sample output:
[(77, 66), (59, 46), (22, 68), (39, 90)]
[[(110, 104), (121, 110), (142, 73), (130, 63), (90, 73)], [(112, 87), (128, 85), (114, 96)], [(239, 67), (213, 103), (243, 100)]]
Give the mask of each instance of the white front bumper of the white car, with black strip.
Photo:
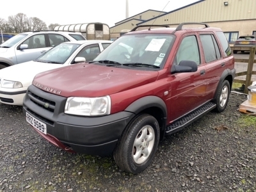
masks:
[(0, 90), (0, 102), (9, 105), (22, 106), (26, 90), (21, 91), (2, 91)]

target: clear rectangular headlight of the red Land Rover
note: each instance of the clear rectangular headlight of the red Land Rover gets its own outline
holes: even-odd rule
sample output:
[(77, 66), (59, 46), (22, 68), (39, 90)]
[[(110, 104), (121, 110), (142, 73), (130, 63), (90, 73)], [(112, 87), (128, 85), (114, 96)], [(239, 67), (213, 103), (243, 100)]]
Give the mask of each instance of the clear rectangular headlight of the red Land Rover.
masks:
[(111, 100), (105, 97), (68, 97), (65, 113), (71, 115), (100, 116), (110, 114)]

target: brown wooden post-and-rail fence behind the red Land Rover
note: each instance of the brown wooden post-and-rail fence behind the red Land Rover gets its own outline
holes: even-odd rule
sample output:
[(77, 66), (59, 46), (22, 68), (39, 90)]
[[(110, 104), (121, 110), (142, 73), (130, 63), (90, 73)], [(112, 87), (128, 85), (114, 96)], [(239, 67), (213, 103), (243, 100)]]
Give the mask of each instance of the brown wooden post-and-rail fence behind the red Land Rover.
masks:
[(252, 80), (252, 75), (256, 75), (256, 71), (252, 70), (253, 69), (253, 63), (256, 63), (256, 60), (254, 59), (256, 47), (231, 47), (231, 49), (233, 51), (234, 50), (235, 51), (250, 51), (249, 59), (235, 58), (235, 62), (248, 63), (247, 71), (239, 72), (235, 76), (235, 77), (246, 76), (245, 81), (244, 80), (239, 80), (239, 79), (234, 80), (234, 83), (243, 83), (243, 84), (245, 84), (244, 93), (248, 94), (247, 87), (250, 86), (250, 84), (252, 84), (252, 81), (251, 81)]

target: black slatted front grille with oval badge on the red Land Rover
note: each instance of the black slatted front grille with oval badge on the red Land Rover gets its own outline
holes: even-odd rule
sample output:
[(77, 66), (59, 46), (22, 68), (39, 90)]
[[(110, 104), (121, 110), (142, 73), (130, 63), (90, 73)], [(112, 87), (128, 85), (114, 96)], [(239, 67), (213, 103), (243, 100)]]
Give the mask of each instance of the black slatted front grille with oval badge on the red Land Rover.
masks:
[(42, 98), (42, 97), (40, 97), (40, 96), (36, 95), (35, 93), (30, 92), (30, 91), (28, 91), (28, 97), (37, 106), (40, 106), (41, 108), (54, 113), (54, 109), (55, 109), (55, 102), (54, 101), (44, 99), (44, 98)]

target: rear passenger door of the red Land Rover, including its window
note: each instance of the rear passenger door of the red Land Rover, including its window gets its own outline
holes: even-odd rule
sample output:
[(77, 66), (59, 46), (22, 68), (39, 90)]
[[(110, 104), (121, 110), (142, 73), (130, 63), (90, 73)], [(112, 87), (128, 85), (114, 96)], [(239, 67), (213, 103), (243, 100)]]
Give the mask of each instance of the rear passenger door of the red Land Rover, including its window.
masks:
[(214, 97), (216, 87), (220, 81), (220, 76), (225, 67), (225, 60), (221, 56), (220, 45), (216, 41), (214, 34), (200, 34), (200, 42), (203, 48), (204, 63), (206, 70), (206, 92), (205, 98), (210, 100)]

